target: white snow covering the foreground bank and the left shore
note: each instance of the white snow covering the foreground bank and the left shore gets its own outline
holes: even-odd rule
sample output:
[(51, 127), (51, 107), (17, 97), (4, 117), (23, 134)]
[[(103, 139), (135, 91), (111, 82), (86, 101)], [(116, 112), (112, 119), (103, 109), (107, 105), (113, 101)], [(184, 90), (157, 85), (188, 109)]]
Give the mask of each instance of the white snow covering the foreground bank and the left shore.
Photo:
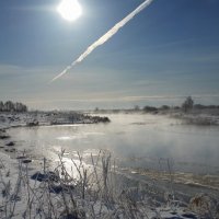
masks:
[[(54, 117), (56, 120), (59, 119), (57, 115), (47, 113), (0, 114), (0, 137), (8, 135), (8, 128), (25, 126), (34, 119), (39, 122), (39, 125), (48, 125)], [(10, 136), (8, 137), (10, 138)], [(4, 147), (5, 142), (9, 142), (8, 140), (0, 139), (0, 147)], [(0, 151), (0, 218), (2, 219), (49, 217), (185, 219), (199, 218), (198, 214), (201, 214), (203, 218), (205, 216), (206, 218), (207, 216), (208, 218), (219, 218), (216, 215), (219, 211), (217, 209), (218, 200), (208, 195), (199, 195), (194, 197), (191, 204), (182, 204), (175, 200), (172, 194), (169, 194), (165, 197), (165, 203), (158, 205), (151, 197), (142, 195), (143, 191), (136, 193), (136, 188), (129, 187), (127, 189), (126, 187), (126, 189), (118, 192), (116, 188), (112, 189), (112, 186), (117, 184), (110, 184), (110, 180), (106, 181), (108, 187), (104, 187), (102, 185), (104, 174), (96, 175), (96, 172), (100, 173), (102, 170), (101, 165), (90, 166), (92, 170), (89, 171), (80, 158), (77, 161), (71, 161), (57, 155), (59, 164), (49, 166), (46, 160), (42, 159), (42, 163), (35, 162), (25, 152), (16, 151), (15, 154), (18, 159), (12, 159), (9, 153)], [(28, 159), (30, 162), (24, 162)], [(106, 158), (102, 158), (102, 161), (103, 159), (105, 162), (107, 161)], [(64, 163), (69, 163), (69, 165), (64, 165)], [(72, 177), (70, 174), (72, 166), (74, 166), (73, 172), (78, 171), (78, 176)], [(108, 166), (105, 165), (105, 168)], [(53, 180), (38, 182), (31, 178), (36, 172), (48, 174), (49, 171), (57, 175), (58, 183)], [(106, 170), (108, 173), (111, 171)], [(132, 171), (132, 174), (137, 175), (138, 172)], [(93, 182), (95, 182), (95, 186), (91, 184)], [(196, 182), (187, 181), (187, 183), (195, 184)], [(69, 185), (76, 188), (69, 189)], [(54, 186), (66, 186), (66, 192), (54, 193), (51, 192)], [(132, 194), (138, 194), (139, 197), (135, 199)]]

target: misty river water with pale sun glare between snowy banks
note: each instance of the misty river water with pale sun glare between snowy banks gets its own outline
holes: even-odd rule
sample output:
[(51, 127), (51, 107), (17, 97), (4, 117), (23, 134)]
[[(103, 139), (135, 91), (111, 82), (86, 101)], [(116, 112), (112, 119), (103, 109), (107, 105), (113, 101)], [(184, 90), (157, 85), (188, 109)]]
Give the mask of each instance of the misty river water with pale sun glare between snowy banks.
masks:
[[(103, 115), (101, 115), (103, 116)], [(175, 171), (219, 174), (219, 127), (183, 125), (162, 115), (108, 114), (108, 124), (11, 128), (19, 150), (53, 160), (108, 150), (120, 164), (161, 168), (171, 160)]]

